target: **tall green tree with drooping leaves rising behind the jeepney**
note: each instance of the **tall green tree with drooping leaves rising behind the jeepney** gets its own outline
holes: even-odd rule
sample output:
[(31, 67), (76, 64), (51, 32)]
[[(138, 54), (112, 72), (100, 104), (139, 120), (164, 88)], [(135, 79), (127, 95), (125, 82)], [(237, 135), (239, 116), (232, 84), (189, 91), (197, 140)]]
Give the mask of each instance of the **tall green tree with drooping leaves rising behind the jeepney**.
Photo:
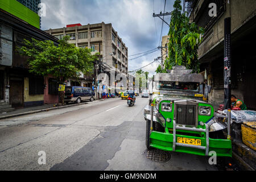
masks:
[(174, 2), (174, 10), (171, 13), (170, 30), (168, 32), (168, 58), (164, 61), (164, 70), (160, 67), (158, 72), (166, 72), (175, 65), (183, 65), (193, 72), (199, 72), (199, 61), (197, 49), (201, 42), (200, 34), (204, 33), (203, 28), (189, 23), (189, 19), (182, 14), (181, 1)]

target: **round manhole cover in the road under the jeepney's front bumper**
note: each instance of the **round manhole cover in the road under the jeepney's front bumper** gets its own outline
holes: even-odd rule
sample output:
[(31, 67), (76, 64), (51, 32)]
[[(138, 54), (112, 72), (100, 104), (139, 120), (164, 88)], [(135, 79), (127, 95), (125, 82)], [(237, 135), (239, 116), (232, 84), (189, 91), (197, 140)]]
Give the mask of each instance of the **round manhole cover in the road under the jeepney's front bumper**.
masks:
[(171, 155), (168, 152), (156, 148), (151, 150), (147, 149), (144, 151), (144, 154), (146, 155), (146, 158), (160, 163), (165, 163), (171, 159)]

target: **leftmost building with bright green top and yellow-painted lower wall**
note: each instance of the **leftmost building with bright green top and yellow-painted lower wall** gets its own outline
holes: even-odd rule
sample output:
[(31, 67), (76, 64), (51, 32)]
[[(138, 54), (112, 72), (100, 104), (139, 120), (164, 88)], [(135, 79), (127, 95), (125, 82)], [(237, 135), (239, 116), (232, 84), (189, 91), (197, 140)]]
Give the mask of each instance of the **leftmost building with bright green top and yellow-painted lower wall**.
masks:
[(57, 39), (40, 30), (38, 14), (18, 1), (0, 0), (0, 5), (0, 111), (59, 102), (57, 81), (30, 73), (28, 57), (16, 51), (24, 39), (51, 40), (56, 46)]

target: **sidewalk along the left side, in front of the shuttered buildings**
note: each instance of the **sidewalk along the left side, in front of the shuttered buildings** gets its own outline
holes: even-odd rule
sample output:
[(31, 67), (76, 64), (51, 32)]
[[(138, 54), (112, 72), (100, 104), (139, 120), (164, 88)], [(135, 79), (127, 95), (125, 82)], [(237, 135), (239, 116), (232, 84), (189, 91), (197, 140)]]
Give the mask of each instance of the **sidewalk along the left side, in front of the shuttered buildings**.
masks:
[[(104, 101), (104, 100), (107, 100), (107, 99), (96, 100), (96, 101), (93, 101), (93, 102), (99, 102), (99, 101)], [(8, 113), (0, 113), (0, 120), (5, 119), (5, 118), (17, 117), (19, 115), (39, 113), (39, 112), (42, 112), (42, 111), (48, 111), (48, 110), (52, 110), (52, 109), (61, 109), (61, 108), (65, 108), (65, 107), (72, 107), (72, 106), (88, 104), (88, 103), (91, 103), (91, 102), (84, 101), (84, 102), (81, 102), (80, 104), (70, 103), (70, 104), (67, 104), (67, 105), (64, 105), (64, 106), (56, 106), (56, 104), (47, 104), (47, 105), (42, 105), (42, 106), (24, 107), (24, 108), (21, 108), (21, 109), (12, 110)]]

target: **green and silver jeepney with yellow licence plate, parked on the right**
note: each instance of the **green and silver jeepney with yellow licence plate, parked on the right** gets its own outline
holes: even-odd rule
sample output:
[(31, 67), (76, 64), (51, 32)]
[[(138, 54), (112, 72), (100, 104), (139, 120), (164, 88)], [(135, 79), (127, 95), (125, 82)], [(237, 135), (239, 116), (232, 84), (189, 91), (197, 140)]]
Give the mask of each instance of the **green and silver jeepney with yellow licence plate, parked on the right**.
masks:
[(203, 75), (180, 66), (153, 77), (144, 108), (148, 149), (232, 157), (232, 142), (223, 134), (227, 123), (216, 119), (213, 106), (203, 101), (205, 86)]

